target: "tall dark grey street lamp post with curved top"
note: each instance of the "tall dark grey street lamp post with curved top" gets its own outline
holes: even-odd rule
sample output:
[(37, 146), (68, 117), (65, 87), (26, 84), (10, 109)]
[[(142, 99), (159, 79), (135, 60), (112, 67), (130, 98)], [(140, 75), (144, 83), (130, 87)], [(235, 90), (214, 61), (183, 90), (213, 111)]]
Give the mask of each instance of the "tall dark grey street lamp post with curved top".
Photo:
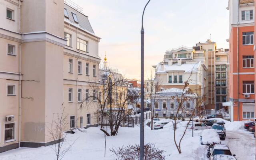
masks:
[[(148, 3), (150, 0), (148, 0)], [(146, 6), (148, 5), (146, 4)], [(141, 38), (141, 46), (140, 46), (140, 57), (141, 57), (141, 63), (140, 63), (140, 160), (144, 160), (144, 28), (143, 28), (143, 16), (146, 9), (146, 6), (144, 7), (143, 13), (142, 13), (142, 25), (141, 25), (141, 31), (140, 31), (140, 38)]]

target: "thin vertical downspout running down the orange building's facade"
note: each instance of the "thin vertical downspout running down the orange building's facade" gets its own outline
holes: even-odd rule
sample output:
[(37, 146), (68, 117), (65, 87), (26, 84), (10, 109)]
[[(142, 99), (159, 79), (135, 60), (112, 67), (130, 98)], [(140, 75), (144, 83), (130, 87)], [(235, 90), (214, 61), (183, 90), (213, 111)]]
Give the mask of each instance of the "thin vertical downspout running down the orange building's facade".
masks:
[(238, 44), (239, 44), (239, 0), (237, 0), (237, 120), (239, 121), (239, 59), (238, 59)]

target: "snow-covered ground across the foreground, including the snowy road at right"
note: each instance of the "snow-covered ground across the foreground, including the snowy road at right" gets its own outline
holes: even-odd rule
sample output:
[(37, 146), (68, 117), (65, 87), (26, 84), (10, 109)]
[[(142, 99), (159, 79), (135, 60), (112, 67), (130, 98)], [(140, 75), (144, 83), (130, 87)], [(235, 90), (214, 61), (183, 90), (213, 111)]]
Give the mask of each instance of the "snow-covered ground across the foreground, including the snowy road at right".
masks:
[[(222, 144), (230, 147), (232, 154), (236, 154), (238, 160), (252, 160), (255, 153), (255, 139), (253, 134), (241, 128), (243, 122), (226, 123), (227, 137)], [(177, 125), (177, 137), (184, 131), (184, 122)], [(230, 126), (230, 127), (229, 127)], [(232, 127), (231, 127), (232, 126)], [(234, 127), (236, 126), (236, 127)], [(188, 130), (181, 143), (182, 153), (178, 154), (173, 140), (173, 128), (169, 123), (164, 129), (150, 130), (145, 125), (145, 143), (154, 143), (156, 147), (165, 150), (166, 160), (206, 160), (206, 146), (200, 144), (202, 131)], [(118, 148), (127, 144), (139, 144), (140, 128), (120, 128), (117, 136), (107, 136), (106, 158), (104, 158), (104, 134), (99, 128), (86, 129), (86, 132), (68, 134), (65, 143), (72, 143), (76, 140), (72, 149), (66, 153), (63, 160), (114, 160), (109, 151), (110, 148)], [(18, 148), (0, 153), (0, 160), (55, 160), (54, 150), (47, 147), (40, 148)]]

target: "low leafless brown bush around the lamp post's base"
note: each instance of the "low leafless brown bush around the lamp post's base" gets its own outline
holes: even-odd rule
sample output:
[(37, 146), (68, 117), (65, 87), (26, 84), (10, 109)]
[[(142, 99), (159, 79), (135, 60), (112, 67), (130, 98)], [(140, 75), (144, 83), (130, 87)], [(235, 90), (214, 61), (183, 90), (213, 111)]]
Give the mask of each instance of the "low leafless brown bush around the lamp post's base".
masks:
[[(110, 149), (111, 152), (116, 156), (116, 160), (140, 160), (140, 145), (128, 145), (119, 148)], [(144, 160), (164, 160), (163, 155), (165, 151), (159, 150), (154, 144), (144, 145)]]

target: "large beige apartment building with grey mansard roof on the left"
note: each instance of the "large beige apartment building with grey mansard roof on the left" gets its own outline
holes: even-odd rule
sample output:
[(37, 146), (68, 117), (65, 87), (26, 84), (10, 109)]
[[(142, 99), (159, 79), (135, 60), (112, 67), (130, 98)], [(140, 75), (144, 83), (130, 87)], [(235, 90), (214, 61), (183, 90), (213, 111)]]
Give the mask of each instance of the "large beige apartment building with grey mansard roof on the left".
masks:
[(80, 101), (98, 82), (98, 43), (82, 8), (65, 0), (0, 2), (0, 152), (54, 142), (47, 125), (68, 114), (66, 130), (95, 126), (96, 102)]

